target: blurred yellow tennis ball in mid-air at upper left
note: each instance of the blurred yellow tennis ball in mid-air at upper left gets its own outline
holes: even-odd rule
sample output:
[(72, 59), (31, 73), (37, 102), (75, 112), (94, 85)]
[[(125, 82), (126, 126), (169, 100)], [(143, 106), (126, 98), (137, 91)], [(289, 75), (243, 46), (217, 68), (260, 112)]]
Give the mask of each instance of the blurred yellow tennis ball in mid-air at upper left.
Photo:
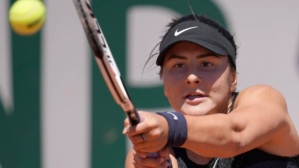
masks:
[(10, 26), (20, 35), (32, 35), (44, 24), (45, 5), (40, 0), (18, 0), (11, 6), (8, 14)]

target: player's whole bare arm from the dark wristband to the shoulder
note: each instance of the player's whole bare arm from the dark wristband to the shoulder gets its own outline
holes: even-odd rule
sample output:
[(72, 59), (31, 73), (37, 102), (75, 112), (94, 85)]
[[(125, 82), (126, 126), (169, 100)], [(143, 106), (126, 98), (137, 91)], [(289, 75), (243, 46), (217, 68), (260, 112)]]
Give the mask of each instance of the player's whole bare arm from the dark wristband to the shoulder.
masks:
[(299, 153), (299, 138), (283, 96), (269, 86), (240, 92), (231, 113), (184, 115), (188, 135), (181, 146), (205, 157), (227, 158), (259, 148), (274, 155)]

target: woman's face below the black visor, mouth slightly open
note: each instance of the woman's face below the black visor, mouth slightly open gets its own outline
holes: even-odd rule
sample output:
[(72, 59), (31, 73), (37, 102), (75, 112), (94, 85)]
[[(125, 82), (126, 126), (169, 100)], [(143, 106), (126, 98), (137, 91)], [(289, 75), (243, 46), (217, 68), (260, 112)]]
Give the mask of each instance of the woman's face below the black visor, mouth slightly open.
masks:
[(168, 50), (162, 77), (171, 106), (187, 115), (226, 113), (230, 87), (237, 84), (228, 56), (218, 56), (189, 42), (180, 42)]

